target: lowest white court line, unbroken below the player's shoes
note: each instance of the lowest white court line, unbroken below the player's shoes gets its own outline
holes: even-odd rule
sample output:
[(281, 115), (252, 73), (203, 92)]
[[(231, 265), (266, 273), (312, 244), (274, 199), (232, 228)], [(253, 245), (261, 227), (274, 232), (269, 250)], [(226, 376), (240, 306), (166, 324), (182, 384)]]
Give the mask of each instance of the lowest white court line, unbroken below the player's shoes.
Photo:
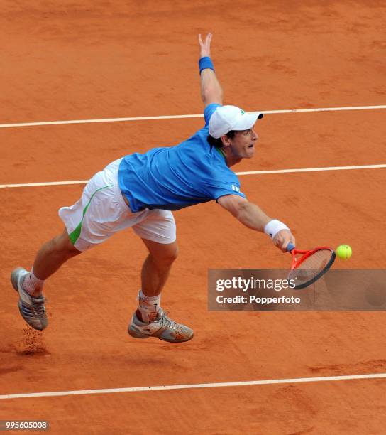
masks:
[(0, 399), (25, 399), (27, 397), (78, 396), (84, 394), (111, 394), (120, 392), (143, 392), (162, 390), (188, 390), (192, 388), (245, 387), (248, 385), (296, 384), (299, 382), (331, 382), (338, 380), (380, 379), (386, 378), (386, 373), (368, 375), (345, 375), (324, 377), (295, 377), (294, 379), (270, 379), (243, 382), (213, 382), (211, 384), (155, 385), (153, 387), (104, 388), (101, 390), (70, 390), (53, 392), (35, 392), (20, 394), (3, 394)]

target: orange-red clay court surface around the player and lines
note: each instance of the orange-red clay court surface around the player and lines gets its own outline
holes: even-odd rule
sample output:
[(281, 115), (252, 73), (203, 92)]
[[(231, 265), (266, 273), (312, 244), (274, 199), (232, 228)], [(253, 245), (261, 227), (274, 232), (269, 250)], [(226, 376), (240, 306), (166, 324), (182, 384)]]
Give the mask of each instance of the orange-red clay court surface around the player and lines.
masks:
[[(202, 113), (197, 33), (212, 31), (224, 102), (248, 111), (386, 104), (382, 1), (3, 1), (0, 124)], [(83, 181), (125, 154), (177, 144), (202, 118), (0, 128), (1, 185)], [(266, 114), (264, 171), (386, 163), (385, 109)], [(386, 267), (385, 168), (240, 176), (248, 199), (302, 247), (348, 243)], [(6, 394), (217, 384), (386, 372), (385, 313), (216, 313), (207, 271), (287, 267), (268, 238), (216, 203), (175, 213), (180, 257), (162, 296), (194, 339), (126, 333), (145, 247), (130, 230), (45, 286), (50, 326), (19, 316), (13, 267), (62, 231), (82, 184), (0, 188), (0, 420), (53, 434), (385, 434), (385, 379), (62, 397)], [(20, 432), (22, 433), (22, 432)]]

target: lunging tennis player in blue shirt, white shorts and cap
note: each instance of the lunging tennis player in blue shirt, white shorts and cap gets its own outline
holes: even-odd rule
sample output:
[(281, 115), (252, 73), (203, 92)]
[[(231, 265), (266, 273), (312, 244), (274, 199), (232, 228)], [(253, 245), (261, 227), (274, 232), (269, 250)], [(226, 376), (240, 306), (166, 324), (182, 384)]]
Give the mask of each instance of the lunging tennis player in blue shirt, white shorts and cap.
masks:
[(241, 192), (231, 166), (255, 153), (255, 122), (248, 114), (223, 106), (223, 92), (210, 58), (212, 35), (199, 35), (199, 73), (205, 126), (181, 144), (130, 154), (110, 163), (87, 183), (82, 198), (62, 207), (62, 234), (38, 251), (31, 272), (13, 270), (18, 307), (32, 328), (48, 326), (43, 284), (68, 259), (132, 227), (148, 248), (141, 272), (138, 309), (128, 325), (134, 338), (156, 337), (172, 343), (190, 340), (193, 330), (170, 319), (160, 306), (161, 291), (178, 253), (172, 210), (216, 200), (251, 230), (265, 232), (286, 251), (295, 244), (289, 228), (271, 219)]

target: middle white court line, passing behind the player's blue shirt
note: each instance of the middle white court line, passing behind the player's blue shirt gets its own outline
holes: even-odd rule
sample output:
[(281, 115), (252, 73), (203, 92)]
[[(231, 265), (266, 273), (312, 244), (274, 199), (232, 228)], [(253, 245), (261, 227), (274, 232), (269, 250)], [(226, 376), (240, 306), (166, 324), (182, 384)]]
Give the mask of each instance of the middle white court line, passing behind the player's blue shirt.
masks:
[[(353, 169), (378, 169), (386, 168), (385, 165), (363, 165), (363, 166), (330, 166), (328, 168), (299, 168), (299, 169), (276, 169), (273, 171), (248, 171), (236, 172), (238, 176), (244, 175), (266, 175), (269, 173), (297, 173), (297, 172), (319, 172), (319, 171), (348, 171)], [(18, 188), (35, 186), (63, 186), (68, 184), (86, 184), (89, 180), (76, 181), (49, 181), (47, 183), (23, 183), (23, 184), (0, 184), (0, 188)]]

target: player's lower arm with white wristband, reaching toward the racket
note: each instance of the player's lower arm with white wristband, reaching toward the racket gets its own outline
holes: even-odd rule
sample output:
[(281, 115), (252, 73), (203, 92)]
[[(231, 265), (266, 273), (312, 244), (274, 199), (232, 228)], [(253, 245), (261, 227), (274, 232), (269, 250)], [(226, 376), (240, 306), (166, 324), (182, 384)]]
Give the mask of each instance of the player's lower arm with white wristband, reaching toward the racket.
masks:
[(287, 252), (289, 242), (296, 245), (294, 236), (285, 224), (269, 218), (258, 205), (250, 203), (242, 196), (224, 195), (217, 202), (246, 227), (270, 235), (274, 245), (282, 252)]

